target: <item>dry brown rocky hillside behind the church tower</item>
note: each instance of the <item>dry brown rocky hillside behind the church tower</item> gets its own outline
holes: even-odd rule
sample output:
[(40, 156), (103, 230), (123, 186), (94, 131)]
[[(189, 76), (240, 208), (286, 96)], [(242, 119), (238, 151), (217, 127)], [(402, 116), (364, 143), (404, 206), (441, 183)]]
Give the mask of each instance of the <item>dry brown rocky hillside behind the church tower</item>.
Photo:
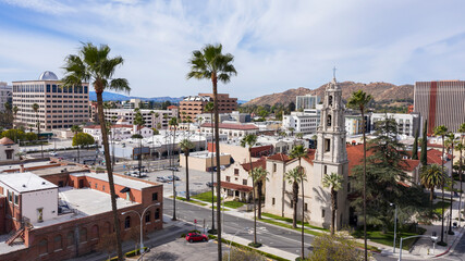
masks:
[[(272, 94), (261, 96), (250, 101), (244, 103), (244, 105), (265, 105), (265, 104), (276, 104), (278, 102), (283, 104), (289, 104), (291, 101), (295, 102), (296, 96), (303, 96), (307, 94), (318, 95), (322, 97), (327, 84), (318, 87), (317, 89), (308, 89), (299, 87), (297, 89), (289, 89), (284, 92)], [(393, 85), (389, 83), (354, 83), (354, 82), (343, 82), (339, 83), (339, 86), (342, 88), (342, 98), (347, 100), (352, 92), (363, 89), (367, 94), (370, 94), (375, 101), (389, 101), (395, 99), (413, 99), (414, 98), (414, 86), (413, 85)]]

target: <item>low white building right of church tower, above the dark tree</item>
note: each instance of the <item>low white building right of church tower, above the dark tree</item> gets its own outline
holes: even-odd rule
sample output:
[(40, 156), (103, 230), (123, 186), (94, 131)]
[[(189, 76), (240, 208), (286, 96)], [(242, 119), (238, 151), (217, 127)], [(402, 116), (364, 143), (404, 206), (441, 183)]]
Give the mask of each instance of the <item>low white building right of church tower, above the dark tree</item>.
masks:
[(371, 113), (371, 130), (376, 130), (376, 122), (383, 121), (386, 117), (394, 119), (397, 123), (399, 135), (407, 137), (415, 137), (418, 132), (418, 136), (421, 136), (423, 126), (421, 117), (419, 113)]

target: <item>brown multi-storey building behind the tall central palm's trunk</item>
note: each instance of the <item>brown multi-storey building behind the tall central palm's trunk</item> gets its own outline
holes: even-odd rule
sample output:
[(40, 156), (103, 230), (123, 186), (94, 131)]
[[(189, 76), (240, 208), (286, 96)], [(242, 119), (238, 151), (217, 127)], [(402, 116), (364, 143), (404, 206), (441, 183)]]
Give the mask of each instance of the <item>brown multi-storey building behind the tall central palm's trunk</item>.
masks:
[[(180, 101), (180, 117), (185, 121), (191, 116), (191, 121), (195, 121), (197, 114), (205, 113), (205, 105), (213, 101), (212, 94), (198, 94), (198, 96), (187, 96)], [(237, 109), (237, 98), (230, 98), (230, 95), (218, 94), (218, 112), (230, 113)], [(185, 113), (183, 113), (185, 112)]]

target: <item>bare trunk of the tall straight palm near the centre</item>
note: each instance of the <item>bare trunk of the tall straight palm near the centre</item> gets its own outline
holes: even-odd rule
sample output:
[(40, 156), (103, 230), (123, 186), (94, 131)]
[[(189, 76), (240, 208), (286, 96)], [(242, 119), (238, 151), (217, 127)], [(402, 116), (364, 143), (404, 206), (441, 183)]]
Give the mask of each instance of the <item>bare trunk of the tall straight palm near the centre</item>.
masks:
[(218, 227), (218, 260), (222, 260), (222, 248), (221, 248), (221, 167), (220, 167), (220, 119), (218, 115), (218, 89), (217, 75), (211, 76), (213, 83), (213, 108), (215, 108), (215, 149), (217, 154), (217, 227)]

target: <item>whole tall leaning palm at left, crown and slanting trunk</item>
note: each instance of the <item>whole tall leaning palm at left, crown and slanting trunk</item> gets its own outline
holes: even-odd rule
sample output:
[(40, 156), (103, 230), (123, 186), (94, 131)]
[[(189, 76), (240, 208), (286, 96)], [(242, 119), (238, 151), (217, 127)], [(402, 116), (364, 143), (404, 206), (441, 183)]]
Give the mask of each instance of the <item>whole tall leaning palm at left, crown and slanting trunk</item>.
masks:
[(119, 260), (123, 260), (123, 251), (121, 247), (121, 233), (120, 221), (117, 208), (117, 195), (114, 191), (113, 172), (111, 169), (110, 149), (108, 145), (108, 132), (105, 125), (103, 115), (103, 98), (102, 94), (106, 89), (113, 89), (117, 91), (131, 90), (129, 83), (125, 78), (113, 78), (114, 71), (118, 66), (123, 64), (121, 57), (109, 58), (110, 47), (101, 45), (96, 47), (93, 44), (83, 44), (78, 54), (70, 54), (66, 57), (66, 64), (64, 65), (65, 76), (63, 78), (64, 86), (81, 86), (82, 83), (91, 83), (97, 95), (97, 112), (100, 121), (101, 137), (105, 153), (105, 161), (107, 164), (108, 183), (110, 186), (111, 195), (111, 209), (114, 219), (114, 231), (117, 236), (117, 253)]

